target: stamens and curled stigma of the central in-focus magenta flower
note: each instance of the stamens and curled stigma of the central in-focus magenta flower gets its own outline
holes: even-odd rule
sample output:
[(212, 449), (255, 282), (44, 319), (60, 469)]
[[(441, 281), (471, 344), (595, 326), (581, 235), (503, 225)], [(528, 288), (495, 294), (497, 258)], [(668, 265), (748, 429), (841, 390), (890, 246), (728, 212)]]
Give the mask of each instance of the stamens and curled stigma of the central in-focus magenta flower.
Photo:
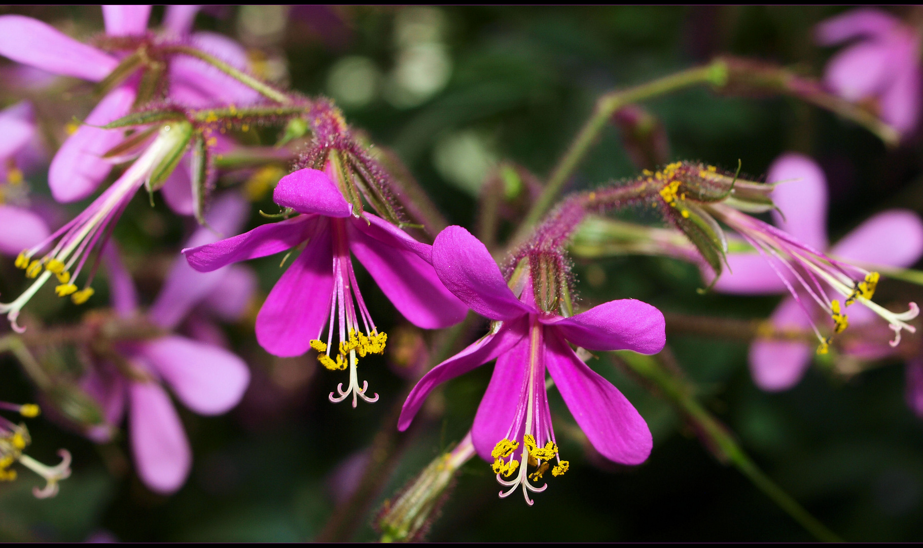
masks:
[[(545, 352), (542, 346), (542, 331), (542, 325), (534, 322), (529, 335), (529, 369), (523, 377), (524, 401), (520, 401), (516, 418), (509, 425), (507, 435), (497, 442), (490, 453), (490, 456), (494, 457), (492, 469), (497, 474), (497, 482), (504, 487), (509, 487), (508, 491), (499, 493), (500, 498), (508, 497), (521, 486), (522, 495), (529, 505), (533, 504), (532, 499), (529, 498), (530, 491), (542, 493), (548, 487), (547, 483), (536, 487), (532, 482), (543, 478), (550, 468), (549, 462), (552, 458), (557, 460), (557, 464), (551, 470), (551, 474), (555, 477), (566, 472), (570, 465), (569, 461), (561, 460), (557, 454), (557, 441), (551, 425), (551, 411), (548, 408), (545, 392)], [(512, 479), (504, 480), (504, 478)]]

